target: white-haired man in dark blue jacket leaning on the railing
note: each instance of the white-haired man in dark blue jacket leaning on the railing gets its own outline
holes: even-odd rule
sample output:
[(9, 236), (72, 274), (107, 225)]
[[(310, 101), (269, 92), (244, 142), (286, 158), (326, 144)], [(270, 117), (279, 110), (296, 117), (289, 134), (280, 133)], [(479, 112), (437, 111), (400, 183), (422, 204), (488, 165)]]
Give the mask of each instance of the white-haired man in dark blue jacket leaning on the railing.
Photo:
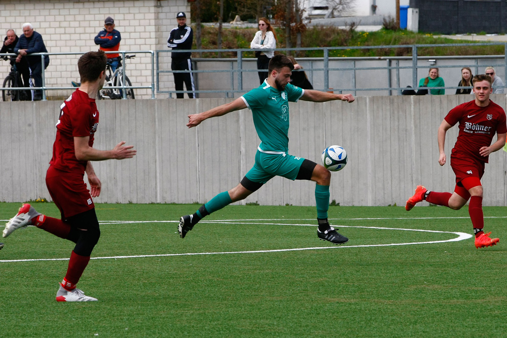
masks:
[[(31, 23), (23, 24), (23, 35), (19, 37), (18, 43), (14, 48), (14, 53), (19, 54), (16, 62), (21, 62), (26, 57), (28, 66), (30, 67), (35, 87), (42, 87), (42, 63), (41, 56), (30, 56), (33, 53), (47, 53), (48, 50), (44, 45), (42, 35), (33, 30)], [(49, 55), (44, 57), (44, 69), (49, 65)], [(25, 84), (26, 87), (26, 84)], [(42, 89), (35, 90), (33, 96), (34, 101), (42, 100)]]

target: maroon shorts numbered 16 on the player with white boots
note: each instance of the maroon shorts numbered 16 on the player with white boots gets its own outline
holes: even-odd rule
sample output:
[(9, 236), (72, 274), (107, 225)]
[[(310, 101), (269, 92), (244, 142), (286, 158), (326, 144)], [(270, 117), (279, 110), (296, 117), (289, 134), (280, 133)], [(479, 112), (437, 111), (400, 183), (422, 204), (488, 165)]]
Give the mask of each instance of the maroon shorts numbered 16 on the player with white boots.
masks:
[(46, 173), (46, 185), (62, 219), (91, 210), (95, 207), (84, 174), (69, 173), (49, 166)]

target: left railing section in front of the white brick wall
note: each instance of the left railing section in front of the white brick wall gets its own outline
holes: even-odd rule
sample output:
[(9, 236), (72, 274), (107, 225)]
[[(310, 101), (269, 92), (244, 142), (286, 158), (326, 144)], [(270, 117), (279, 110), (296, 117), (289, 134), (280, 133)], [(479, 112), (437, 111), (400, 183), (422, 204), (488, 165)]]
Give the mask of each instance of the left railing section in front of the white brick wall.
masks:
[[(120, 54), (122, 58), (122, 83), (120, 86), (110, 86), (108, 88), (111, 89), (123, 89), (123, 97), (122, 99), (126, 99), (126, 90), (125, 89), (151, 89), (152, 92), (152, 99), (155, 98), (155, 52), (154, 51), (117, 51), (117, 52), (105, 52), (106, 54)], [(137, 53), (144, 53), (144, 54), (151, 54), (151, 85), (150, 86), (126, 86), (125, 85), (125, 73), (127, 68), (127, 63), (125, 62), (125, 54), (137, 54)], [(46, 56), (50, 55), (82, 55), (81, 52), (74, 52), (74, 53), (33, 53), (29, 54), (29, 56), (40, 56), (41, 57), (41, 63), (42, 63), (42, 87), (29, 87), (30, 90), (42, 90), (42, 99), (46, 100), (46, 91), (47, 90), (61, 90), (61, 89), (75, 89), (71, 86), (65, 86), (65, 87), (47, 87), (46, 86), (46, 69), (44, 60)], [(17, 54), (0, 54), (0, 57), (3, 56), (17, 56)], [(76, 65), (77, 67), (77, 65)], [(128, 76), (128, 75), (127, 75)], [(11, 87), (10, 90), (26, 90), (28, 87)]]

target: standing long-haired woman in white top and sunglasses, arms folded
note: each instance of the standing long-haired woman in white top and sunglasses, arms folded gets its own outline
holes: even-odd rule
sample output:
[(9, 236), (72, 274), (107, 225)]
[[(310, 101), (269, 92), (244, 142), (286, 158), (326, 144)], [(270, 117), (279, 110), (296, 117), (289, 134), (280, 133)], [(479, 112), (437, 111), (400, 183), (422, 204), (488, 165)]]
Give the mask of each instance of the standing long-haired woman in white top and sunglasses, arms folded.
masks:
[[(266, 18), (259, 19), (259, 31), (253, 37), (250, 43), (250, 48), (255, 49), (274, 49), (276, 48), (276, 34), (271, 27), (271, 23)], [(257, 69), (266, 69), (266, 71), (259, 72), (259, 81), (261, 85), (268, 77), (269, 60), (275, 55), (274, 51), (256, 51)]]

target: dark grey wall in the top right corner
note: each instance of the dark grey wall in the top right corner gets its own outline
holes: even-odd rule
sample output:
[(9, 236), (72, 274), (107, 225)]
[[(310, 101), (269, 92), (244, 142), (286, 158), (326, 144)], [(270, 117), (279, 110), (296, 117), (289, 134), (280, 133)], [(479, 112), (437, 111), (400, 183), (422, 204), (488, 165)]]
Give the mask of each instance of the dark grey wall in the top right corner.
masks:
[(419, 9), (419, 31), (443, 34), (506, 33), (507, 4), (480, 0), (410, 0)]

